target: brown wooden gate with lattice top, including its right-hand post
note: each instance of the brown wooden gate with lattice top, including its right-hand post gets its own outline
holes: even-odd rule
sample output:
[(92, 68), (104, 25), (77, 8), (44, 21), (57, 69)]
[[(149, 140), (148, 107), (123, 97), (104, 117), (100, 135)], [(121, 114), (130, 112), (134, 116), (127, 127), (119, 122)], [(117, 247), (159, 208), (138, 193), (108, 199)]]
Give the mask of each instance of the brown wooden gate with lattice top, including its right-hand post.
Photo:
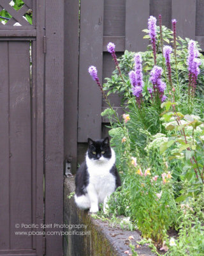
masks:
[(62, 255), (42, 225), (63, 223), (64, 3), (15, 3), (0, 0), (0, 255)]

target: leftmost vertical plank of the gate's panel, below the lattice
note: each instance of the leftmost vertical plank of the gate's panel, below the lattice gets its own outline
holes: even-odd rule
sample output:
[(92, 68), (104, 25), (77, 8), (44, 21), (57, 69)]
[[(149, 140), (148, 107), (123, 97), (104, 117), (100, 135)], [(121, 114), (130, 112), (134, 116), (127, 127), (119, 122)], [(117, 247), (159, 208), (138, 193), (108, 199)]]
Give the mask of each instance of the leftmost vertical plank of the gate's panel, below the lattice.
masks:
[(0, 250), (10, 248), (8, 42), (0, 42)]

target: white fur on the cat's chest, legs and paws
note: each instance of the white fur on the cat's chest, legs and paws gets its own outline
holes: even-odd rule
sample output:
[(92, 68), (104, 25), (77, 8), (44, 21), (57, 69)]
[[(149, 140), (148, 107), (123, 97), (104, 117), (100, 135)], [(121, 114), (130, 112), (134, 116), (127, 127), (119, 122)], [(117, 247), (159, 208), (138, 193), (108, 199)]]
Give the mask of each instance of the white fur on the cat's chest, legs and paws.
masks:
[(98, 204), (103, 203), (103, 211), (106, 212), (108, 196), (115, 191), (115, 177), (110, 173), (115, 164), (115, 152), (111, 148), (112, 157), (106, 159), (101, 156), (98, 161), (86, 156), (87, 172), (89, 173), (89, 184), (86, 188), (87, 194), (75, 195), (75, 202), (80, 209), (90, 209), (90, 212), (98, 212)]

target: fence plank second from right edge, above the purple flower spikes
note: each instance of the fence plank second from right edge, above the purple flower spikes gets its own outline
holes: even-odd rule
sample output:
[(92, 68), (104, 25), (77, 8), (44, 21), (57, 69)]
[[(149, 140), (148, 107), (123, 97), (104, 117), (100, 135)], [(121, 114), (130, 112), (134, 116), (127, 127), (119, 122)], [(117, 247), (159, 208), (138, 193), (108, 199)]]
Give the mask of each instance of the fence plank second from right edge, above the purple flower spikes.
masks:
[(195, 39), (196, 0), (172, 0), (172, 19), (177, 22), (177, 35)]

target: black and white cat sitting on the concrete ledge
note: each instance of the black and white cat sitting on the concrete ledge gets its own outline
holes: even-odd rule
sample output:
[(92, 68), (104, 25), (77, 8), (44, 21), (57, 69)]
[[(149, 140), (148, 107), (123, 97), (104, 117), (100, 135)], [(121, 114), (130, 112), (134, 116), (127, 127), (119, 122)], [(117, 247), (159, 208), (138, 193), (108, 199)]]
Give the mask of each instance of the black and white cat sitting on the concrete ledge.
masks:
[(85, 161), (75, 178), (75, 202), (80, 209), (90, 209), (90, 212), (98, 212), (98, 205), (103, 203), (106, 212), (108, 196), (121, 186), (115, 167), (115, 152), (108, 137), (96, 141), (88, 139), (88, 143)]

